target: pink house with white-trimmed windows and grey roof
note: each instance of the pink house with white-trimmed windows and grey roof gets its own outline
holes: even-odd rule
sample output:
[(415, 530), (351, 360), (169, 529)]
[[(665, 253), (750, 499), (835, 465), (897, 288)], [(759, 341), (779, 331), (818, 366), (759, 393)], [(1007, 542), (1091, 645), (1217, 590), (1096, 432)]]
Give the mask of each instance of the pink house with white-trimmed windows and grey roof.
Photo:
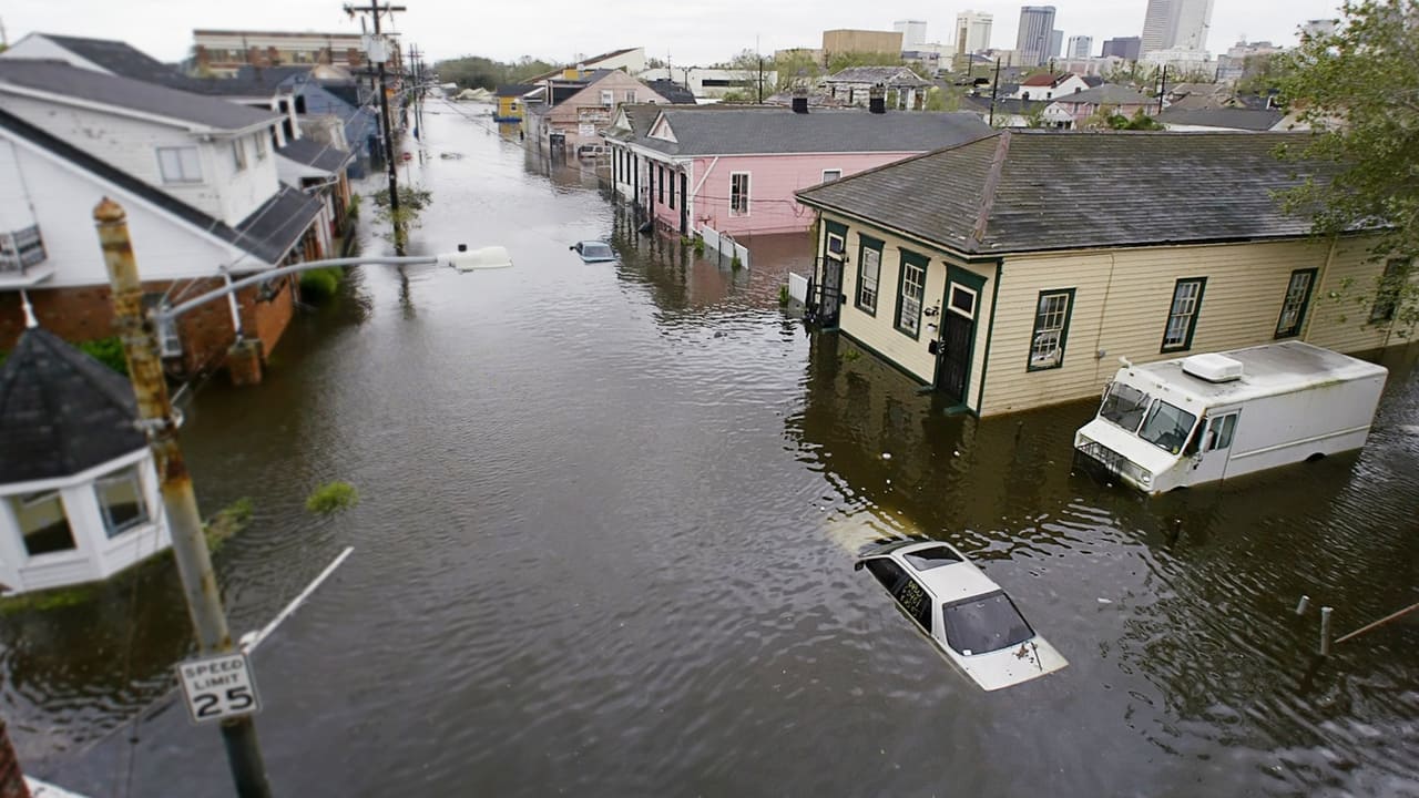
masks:
[(800, 189), (990, 132), (969, 112), (623, 105), (606, 143), (617, 196), (684, 234), (738, 237), (807, 230)]

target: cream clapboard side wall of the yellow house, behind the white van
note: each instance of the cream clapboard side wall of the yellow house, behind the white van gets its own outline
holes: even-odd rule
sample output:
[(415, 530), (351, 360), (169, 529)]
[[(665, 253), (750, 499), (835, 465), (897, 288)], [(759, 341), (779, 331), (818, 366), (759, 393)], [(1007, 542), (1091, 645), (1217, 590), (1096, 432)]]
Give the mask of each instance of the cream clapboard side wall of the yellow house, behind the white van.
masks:
[[(1358, 241), (1337, 247), (1331, 271), (1325, 270), (1328, 243), (1310, 240), (1007, 257), (981, 413), (1095, 396), (1118, 369), (1120, 356), (1144, 364), (1274, 341), (1286, 287), (1297, 268), (1321, 274), (1304, 339), (1341, 351), (1375, 348), (1379, 339), (1362, 328), (1368, 310), (1352, 312), (1345, 324), (1323, 312), (1325, 291), (1341, 275), (1357, 277), (1359, 284), (1378, 273), (1374, 263), (1364, 266), (1357, 250), (1364, 251)], [(1161, 352), (1174, 287), (1189, 277), (1208, 280), (1192, 346)], [(1056, 288), (1076, 291), (1063, 364), (1032, 372), (1026, 365), (1039, 294)]]

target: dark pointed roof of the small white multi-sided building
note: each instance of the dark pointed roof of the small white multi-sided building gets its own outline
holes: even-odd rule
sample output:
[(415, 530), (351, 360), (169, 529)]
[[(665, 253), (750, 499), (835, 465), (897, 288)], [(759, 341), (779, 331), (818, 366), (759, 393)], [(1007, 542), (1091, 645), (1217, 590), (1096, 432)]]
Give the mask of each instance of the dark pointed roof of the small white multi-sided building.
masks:
[(128, 379), (47, 329), (0, 365), (0, 483), (67, 477), (148, 446)]

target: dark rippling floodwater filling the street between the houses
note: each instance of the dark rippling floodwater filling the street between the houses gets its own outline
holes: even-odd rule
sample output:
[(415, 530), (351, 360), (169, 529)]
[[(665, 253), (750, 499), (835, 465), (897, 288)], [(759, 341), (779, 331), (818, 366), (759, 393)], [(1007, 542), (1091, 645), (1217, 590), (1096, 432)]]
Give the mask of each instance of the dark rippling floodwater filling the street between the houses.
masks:
[[(430, 104), (402, 169), (434, 196), (413, 248), (515, 268), (356, 270), (264, 385), (187, 410), (203, 508), (257, 505), (216, 557), (236, 630), (355, 550), (254, 655), (277, 794), (1419, 795), (1419, 625), (1311, 656), (1315, 606), (1347, 632), (1419, 599), (1412, 352), (1364, 452), (1142, 500), (1070, 473), (1088, 405), (948, 416), (807, 334), (778, 307), (803, 237), (697, 261), (468, 112)], [(603, 236), (619, 264), (568, 251)], [(360, 504), (307, 514), (336, 479)], [(976, 689), (851, 568), (904, 535), (1070, 666)], [(233, 794), (169, 693), (190, 650), (162, 567), (0, 618), (27, 768)]]

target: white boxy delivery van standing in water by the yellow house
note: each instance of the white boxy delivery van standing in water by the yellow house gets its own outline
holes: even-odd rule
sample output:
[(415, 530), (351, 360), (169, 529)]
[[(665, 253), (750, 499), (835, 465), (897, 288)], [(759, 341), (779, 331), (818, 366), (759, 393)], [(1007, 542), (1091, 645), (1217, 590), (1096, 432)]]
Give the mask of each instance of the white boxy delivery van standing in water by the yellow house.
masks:
[(1389, 373), (1300, 341), (1124, 364), (1074, 460), (1144, 493), (1359, 449)]

